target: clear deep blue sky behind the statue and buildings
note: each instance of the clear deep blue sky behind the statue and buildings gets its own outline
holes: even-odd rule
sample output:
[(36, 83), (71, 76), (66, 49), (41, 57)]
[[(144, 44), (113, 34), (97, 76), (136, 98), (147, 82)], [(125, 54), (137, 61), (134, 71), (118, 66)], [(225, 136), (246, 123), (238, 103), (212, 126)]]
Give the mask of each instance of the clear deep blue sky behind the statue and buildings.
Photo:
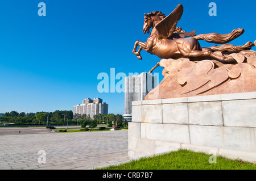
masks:
[[(46, 16), (38, 15), (39, 2), (46, 3)], [(217, 16), (209, 16), (210, 2), (217, 4)], [(168, 15), (179, 3), (184, 13), (178, 26), (185, 31), (245, 28), (232, 44), (256, 39), (255, 0), (1, 1), (0, 113), (72, 110), (82, 99), (100, 97), (109, 113), (123, 114), (124, 94), (98, 92), (98, 74), (110, 75), (110, 68), (116, 74), (150, 70), (160, 58), (142, 50), (141, 61), (131, 53), (135, 41), (148, 37), (142, 32), (144, 13)]]

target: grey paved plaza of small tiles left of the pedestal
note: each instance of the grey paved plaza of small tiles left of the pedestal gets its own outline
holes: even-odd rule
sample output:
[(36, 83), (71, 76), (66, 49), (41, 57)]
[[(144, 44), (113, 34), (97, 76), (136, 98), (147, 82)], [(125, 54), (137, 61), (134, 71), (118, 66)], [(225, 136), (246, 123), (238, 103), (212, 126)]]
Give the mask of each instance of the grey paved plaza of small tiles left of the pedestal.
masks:
[(2, 134), (0, 145), (1, 170), (81, 170), (130, 160), (127, 130)]

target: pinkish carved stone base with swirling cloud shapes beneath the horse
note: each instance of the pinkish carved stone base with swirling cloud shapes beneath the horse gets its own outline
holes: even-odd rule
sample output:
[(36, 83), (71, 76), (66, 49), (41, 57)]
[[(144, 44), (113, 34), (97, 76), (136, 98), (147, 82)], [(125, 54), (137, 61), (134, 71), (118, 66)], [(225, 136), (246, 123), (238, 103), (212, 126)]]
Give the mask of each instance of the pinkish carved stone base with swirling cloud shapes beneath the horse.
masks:
[(238, 63), (222, 66), (217, 66), (216, 60), (162, 59), (163, 81), (145, 100), (256, 91), (256, 56), (251, 53), (243, 52), (250, 54), (247, 57), (230, 54)]

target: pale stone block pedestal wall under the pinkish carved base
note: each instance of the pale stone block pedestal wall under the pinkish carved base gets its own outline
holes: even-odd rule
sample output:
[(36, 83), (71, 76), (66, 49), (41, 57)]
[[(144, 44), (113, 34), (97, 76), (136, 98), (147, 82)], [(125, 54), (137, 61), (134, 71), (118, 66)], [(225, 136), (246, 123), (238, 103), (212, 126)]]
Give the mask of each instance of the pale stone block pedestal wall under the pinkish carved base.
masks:
[(129, 156), (178, 149), (256, 162), (256, 92), (133, 102)]

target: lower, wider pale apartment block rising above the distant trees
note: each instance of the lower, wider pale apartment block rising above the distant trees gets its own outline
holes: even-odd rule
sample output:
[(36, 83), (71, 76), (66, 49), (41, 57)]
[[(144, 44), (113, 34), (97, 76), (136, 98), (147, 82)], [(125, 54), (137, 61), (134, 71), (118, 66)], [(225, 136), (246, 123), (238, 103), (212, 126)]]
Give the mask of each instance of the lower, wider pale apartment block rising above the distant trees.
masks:
[(86, 114), (90, 115), (90, 118), (93, 119), (94, 115), (108, 115), (109, 104), (102, 102), (101, 98), (86, 98), (82, 100), (82, 104), (77, 104), (73, 107), (73, 114), (78, 113), (80, 115)]

